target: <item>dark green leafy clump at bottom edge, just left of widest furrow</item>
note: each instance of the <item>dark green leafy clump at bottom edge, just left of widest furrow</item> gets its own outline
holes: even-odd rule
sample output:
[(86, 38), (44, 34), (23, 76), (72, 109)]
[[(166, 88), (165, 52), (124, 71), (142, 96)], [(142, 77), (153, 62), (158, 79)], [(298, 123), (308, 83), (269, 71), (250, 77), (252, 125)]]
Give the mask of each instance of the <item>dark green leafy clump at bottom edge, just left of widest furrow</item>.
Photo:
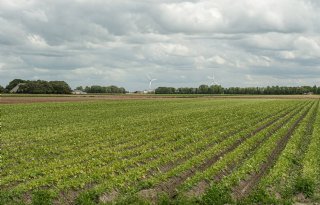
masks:
[(232, 197), (230, 191), (223, 186), (214, 185), (204, 194), (201, 204), (230, 204)]

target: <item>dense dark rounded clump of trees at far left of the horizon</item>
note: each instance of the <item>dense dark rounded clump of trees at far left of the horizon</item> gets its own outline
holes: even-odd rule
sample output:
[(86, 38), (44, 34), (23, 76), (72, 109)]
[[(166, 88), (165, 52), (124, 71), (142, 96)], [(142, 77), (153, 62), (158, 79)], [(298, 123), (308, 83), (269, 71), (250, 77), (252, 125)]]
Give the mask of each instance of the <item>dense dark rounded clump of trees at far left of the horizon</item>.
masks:
[(44, 80), (21, 80), (14, 79), (7, 85), (6, 92), (10, 92), (19, 83), (20, 85), (17, 93), (28, 93), (28, 94), (70, 94), (71, 88), (64, 81), (44, 81)]

